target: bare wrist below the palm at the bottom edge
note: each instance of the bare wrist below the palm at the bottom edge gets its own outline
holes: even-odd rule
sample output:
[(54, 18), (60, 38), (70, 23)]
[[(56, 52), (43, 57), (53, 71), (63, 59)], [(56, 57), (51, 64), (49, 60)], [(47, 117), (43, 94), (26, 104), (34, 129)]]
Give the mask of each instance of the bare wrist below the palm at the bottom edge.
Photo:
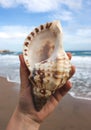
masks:
[(16, 108), (6, 130), (38, 130), (40, 124)]

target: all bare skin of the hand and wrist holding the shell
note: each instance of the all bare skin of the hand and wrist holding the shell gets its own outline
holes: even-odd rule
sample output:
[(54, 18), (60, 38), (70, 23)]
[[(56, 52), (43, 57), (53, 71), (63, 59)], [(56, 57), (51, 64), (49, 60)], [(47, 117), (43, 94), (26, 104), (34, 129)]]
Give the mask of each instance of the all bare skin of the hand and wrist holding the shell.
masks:
[[(71, 54), (67, 53), (71, 60)], [(20, 59), (20, 96), (16, 109), (8, 123), (6, 130), (38, 130), (43, 120), (53, 112), (62, 98), (71, 89), (72, 84), (67, 83), (57, 90), (54, 95), (50, 97), (45, 106), (37, 112), (34, 108), (31, 86), (28, 80), (29, 71), (25, 65), (23, 55), (19, 56)], [(71, 68), (71, 76), (75, 73), (75, 67)], [(70, 77), (71, 78), (71, 77)]]

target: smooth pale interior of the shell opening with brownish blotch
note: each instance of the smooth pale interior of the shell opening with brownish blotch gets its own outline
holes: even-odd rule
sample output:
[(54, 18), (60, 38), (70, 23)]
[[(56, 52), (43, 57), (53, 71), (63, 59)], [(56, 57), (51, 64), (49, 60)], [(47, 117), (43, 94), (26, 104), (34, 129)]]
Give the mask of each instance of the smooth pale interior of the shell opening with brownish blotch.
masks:
[[(49, 29), (39, 32), (30, 41), (26, 39), (29, 45), (28, 47), (24, 45), (24, 49), (27, 49), (27, 55), (24, 55), (24, 59), (25, 62), (28, 60), (30, 71), (33, 69), (35, 63), (44, 61), (51, 56), (55, 47), (55, 39), (55, 34)], [(25, 53), (24, 49), (23, 53)]]

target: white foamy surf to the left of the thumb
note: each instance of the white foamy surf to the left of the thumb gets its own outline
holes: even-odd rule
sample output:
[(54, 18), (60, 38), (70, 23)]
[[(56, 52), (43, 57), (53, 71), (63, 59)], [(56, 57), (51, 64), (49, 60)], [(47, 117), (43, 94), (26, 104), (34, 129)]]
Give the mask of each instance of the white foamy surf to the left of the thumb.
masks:
[(17, 55), (0, 55), (0, 76), (19, 82), (19, 64)]

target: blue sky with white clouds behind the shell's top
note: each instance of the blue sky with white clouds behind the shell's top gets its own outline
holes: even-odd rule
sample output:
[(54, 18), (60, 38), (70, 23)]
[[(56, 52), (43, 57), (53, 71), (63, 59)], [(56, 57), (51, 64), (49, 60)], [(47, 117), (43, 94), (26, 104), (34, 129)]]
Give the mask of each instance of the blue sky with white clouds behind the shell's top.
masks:
[(54, 20), (65, 50), (91, 50), (91, 0), (0, 0), (0, 50), (22, 51), (35, 27)]

